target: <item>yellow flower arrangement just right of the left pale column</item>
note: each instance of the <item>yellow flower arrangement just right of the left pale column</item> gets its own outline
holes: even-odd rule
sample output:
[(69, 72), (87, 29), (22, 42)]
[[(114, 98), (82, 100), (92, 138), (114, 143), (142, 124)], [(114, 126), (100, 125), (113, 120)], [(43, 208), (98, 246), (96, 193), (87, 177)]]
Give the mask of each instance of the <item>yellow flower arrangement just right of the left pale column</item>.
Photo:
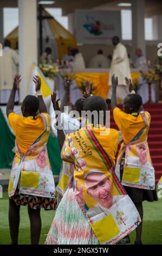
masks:
[(39, 65), (43, 75), (46, 77), (54, 78), (59, 72), (59, 68), (56, 64), (42, 64)]

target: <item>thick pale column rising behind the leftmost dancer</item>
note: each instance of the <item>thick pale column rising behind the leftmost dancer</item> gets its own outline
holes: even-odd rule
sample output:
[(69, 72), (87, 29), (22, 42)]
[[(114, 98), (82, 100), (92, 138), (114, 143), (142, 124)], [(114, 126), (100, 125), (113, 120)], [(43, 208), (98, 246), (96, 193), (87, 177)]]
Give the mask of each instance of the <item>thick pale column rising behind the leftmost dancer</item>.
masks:
[(19, 27), (19, 66), (22, 81), (20, 85), (20, 102), (28, 94), (31, 66), (37, 65), (37, 1), (18, 0)]

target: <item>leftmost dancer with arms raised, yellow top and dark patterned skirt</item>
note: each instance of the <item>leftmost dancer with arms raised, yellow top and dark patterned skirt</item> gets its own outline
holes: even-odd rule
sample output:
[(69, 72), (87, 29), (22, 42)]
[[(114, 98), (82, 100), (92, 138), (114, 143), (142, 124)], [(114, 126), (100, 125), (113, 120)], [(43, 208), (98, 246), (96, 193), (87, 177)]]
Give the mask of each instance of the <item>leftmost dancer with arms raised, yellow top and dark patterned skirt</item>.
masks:
[[(31, 244), (38, 244), (41, 233), (40, 209), (55, 208), (55, 184), (51, 171), (47, 141), (50, 117), (41, 95), (41, 80), (34, 77), (36, 96), (28, 95), (22, 103), (22, 114), (14, 113), (14, 99), (21, 77), (15, 76), (7, 105), (9, 124), (16, 135), (15, 157), (9, 180), (9, 225), (11, 244), (18, 243), (20, 206), (28, 206)], [(41, 114), (37, 114), (37, 111)]]

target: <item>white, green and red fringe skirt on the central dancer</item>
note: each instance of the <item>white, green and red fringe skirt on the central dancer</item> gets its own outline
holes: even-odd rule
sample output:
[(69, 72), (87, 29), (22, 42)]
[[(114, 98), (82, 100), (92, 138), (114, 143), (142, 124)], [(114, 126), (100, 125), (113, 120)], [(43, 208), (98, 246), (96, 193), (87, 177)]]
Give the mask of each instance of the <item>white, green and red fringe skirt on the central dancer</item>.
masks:
[(51, 224), (47, 245), (99, 245), (90, 224), (76, 202), (73, 188), (64, 194)]

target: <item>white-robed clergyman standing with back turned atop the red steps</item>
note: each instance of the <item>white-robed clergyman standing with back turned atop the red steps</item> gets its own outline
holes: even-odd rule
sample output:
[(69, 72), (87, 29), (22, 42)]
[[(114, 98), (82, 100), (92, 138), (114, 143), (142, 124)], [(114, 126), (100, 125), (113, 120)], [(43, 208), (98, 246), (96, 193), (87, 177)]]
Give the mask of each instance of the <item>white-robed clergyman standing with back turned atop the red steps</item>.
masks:
[(112, 38), (113, 45), (115, 46), (111, 68), (109, 71), (109, 92), (108, 92), (108, 99), (111, 99), (112, 96), (112, 75), (118, 76), (118, 87), (116, 90), (116, 99), (118, 102), (122, 102), (129, 94), (128, 88), (125, 83), (125, 77), (131, 78), (131, 69), (129, 66), (129, 59), (127, 49), (124, 45), (120, 43), (120, 39), (118, 36), (114, 36)]

